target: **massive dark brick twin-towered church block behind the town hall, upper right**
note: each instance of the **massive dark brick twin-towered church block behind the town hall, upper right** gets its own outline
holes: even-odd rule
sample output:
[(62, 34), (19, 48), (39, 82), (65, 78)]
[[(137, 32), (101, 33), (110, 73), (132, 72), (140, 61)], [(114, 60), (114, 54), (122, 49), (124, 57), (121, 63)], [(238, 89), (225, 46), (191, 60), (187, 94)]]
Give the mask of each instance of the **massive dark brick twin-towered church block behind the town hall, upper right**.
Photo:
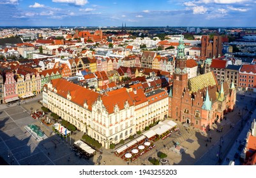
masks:
[(208, 35), (201, 38), (201, 56), (207, 58), (217, 58), (222, 56), (222, 36), (213, 36), (213, 41)]

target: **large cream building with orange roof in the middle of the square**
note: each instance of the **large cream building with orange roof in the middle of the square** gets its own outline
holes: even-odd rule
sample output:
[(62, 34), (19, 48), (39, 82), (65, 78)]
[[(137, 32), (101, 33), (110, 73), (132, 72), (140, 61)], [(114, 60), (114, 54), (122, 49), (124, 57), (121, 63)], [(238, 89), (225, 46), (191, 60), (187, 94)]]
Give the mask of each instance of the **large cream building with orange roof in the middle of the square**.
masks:
[(105, 148), (168, 114), (167, 92), (158, 89), (144, 93), (142, 84), (100, 94), (64, 79), (53, 79), (43, 86), (43, 104)]

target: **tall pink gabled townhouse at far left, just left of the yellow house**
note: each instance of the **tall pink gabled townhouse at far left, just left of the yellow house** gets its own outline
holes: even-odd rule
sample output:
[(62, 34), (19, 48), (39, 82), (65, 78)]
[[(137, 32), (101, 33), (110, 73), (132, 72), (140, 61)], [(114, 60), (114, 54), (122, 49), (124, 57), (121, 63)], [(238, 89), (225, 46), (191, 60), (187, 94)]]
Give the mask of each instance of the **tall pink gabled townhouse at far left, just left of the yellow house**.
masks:
[(14, 79), (13, 72), (6, 72), (4, 81), (4, 100), (18, 97), (17, 82)]

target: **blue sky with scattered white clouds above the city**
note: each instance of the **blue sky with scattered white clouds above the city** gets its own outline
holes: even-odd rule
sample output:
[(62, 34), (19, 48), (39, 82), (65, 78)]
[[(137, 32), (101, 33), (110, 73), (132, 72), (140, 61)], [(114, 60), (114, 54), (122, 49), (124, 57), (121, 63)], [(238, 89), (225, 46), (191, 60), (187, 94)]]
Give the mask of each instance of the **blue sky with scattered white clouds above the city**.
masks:
[(256, 0), (0, 0), (0, 26), (256, 27)]

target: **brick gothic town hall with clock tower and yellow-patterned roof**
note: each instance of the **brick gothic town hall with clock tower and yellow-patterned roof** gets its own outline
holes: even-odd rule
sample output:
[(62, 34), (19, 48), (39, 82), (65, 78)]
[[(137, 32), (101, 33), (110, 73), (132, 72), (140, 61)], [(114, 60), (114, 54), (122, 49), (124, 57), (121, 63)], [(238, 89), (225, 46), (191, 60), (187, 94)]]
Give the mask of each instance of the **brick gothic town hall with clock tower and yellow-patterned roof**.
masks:
[(169, 93), (169, 116), (206, 131), (220, 122), (236, 103), (234, 83), (218, 85), (213, 72), (188, 79), (183, 39), (179, 41), (173, 87)]

